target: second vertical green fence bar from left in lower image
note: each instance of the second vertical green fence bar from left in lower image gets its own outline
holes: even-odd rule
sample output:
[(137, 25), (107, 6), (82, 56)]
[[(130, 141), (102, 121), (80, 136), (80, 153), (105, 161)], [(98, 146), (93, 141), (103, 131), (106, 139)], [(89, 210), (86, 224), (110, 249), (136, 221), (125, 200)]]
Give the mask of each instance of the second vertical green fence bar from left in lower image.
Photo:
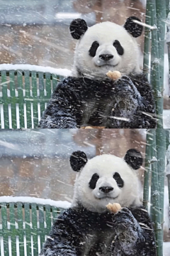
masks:
[(9, 218), (11, 230), (11, 250), (12, 255), (16, 255), (16, 215), (14, 210), (14, 203), (9, 203)]

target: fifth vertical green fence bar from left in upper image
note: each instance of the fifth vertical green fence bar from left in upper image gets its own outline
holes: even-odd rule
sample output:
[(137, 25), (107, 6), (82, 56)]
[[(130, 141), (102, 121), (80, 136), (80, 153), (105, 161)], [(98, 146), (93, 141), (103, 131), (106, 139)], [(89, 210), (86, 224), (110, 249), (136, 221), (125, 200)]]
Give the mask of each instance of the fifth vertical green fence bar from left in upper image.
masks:
[(36, 129), (38, 127), (37, 73), (35, 71), (32, 71), (31, 77), (32, 77), (32, 92), (33, 92), (33, 122), (34, 122), (34, 129)]

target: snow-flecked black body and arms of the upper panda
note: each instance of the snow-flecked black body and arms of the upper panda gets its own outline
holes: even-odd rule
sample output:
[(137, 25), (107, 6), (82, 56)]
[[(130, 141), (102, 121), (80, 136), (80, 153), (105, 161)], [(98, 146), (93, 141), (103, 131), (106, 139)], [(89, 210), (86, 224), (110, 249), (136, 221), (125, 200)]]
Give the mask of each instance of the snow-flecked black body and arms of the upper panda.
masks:
[(69, 77), (55, 89), (40, 128), (155, 128), (152, 88), (145, 75), (116, 80)]

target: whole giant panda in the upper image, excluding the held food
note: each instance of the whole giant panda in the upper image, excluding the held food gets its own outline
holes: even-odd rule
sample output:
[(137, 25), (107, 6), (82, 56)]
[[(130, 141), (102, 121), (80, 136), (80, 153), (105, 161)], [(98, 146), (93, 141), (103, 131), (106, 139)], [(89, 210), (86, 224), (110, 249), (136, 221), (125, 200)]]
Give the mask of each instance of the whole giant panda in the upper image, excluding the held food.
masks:
[[(39, 123), (40, 128), (155, 128), (154, 98), (140, 70), (139, 18), (131, 16), (124, 26), (103, 22), (87, 27), (77, 18), (70, 32), (77, 39), (72, 77), (53, 92)], [(67, 58), (67, 57), (66, 57)], [(118, 70), (112, 80), (108, 71)]]

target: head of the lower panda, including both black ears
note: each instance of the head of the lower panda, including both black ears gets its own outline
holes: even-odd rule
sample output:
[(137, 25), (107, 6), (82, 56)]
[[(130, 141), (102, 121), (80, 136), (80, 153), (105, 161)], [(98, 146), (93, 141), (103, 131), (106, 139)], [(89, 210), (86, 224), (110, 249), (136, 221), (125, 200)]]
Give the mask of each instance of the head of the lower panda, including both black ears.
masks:
[(129, 149), (125, 157), (103, 154), (88, 160), (82, 151), (75, 151), (70, 164), (77, 171), (73, 207), (79, 205), (102, 213), (108, 203), (122, 207), (140, 206), (138, 179), (135, 170), (142, 165), (142, 155)]

